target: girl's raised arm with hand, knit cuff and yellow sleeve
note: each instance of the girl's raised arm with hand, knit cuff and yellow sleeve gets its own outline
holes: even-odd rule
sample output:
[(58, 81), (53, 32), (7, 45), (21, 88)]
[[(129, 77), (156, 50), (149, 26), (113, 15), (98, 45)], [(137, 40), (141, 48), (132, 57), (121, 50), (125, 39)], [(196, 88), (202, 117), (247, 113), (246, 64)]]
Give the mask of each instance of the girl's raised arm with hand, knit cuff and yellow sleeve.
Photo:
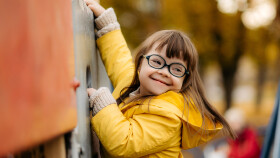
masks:
[(133, 78), (134, 64), (131, 52), (120, 31), (120, 25), (112, 8), (105, 10), (95, 0), (85, 0), (93, 11), (97, 28), (97, 46), (107, 74), (115, 88), (113, 96), (128, 86)]

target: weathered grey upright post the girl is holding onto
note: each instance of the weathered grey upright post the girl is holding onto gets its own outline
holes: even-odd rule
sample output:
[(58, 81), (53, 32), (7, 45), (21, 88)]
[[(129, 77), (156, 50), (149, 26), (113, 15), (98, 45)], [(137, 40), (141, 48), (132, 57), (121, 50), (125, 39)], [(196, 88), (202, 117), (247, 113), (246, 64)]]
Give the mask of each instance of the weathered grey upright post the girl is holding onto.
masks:
[[(96, 50), (94, 17), (83, 0), (73, 0), (73, 26), (76, 76), (81, 81), (77, 90), (78, 125), (72, 132), (71, 155), (98, 157), (98, 142), (92, 136), (90, 111), (86, 89), (89, 87), (110, 87), (105, 68)], [(76, 147), (74, 147), (76, 146)], [(77, 152), (78, 151), (78, 152)], [(77, 155), (76, 155), (77, 157)]]

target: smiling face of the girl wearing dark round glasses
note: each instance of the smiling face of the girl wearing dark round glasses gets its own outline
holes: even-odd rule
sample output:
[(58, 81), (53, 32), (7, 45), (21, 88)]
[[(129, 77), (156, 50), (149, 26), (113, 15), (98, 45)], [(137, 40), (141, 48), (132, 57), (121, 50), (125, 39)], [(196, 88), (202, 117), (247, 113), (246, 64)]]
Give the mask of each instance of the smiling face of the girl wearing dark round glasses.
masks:
[[(162, 50), (155, 50), (158, 44), (155, 44), (152, 49), (146, 54), (152, 55), (157, 54), (163, 57), (166, 61), (166, 64), (171, 63), (180, 63), (185, 68), (187, 68), (186, 63), (179, 58), (167, 58), (166, 57), (166, 47), (164, 46)], [(140, 80), (140, 94), (141, 95), (160, 95), (169, 90), (173, 90), (179, 92), (182, 88), (183, 81), (185, 76), (183, 77), (175, 77), (168, 71), (168, 67), (165, 66), (162, 69), (152, 68), (148, 64), (148, 60), (143, 57), (141, 64), (138, 68), (139, 70), (139, 80)]]

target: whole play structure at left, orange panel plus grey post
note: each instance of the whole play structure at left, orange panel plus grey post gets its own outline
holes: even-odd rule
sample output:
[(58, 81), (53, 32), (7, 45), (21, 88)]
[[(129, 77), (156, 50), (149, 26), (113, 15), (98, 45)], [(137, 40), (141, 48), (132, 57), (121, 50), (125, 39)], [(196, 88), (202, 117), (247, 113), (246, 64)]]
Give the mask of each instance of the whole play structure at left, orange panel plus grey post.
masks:
[(0, 19), (0, 157), (96, 157), (86, 88), (110, 82), (92, 12), (83, 0), (0, 1)]

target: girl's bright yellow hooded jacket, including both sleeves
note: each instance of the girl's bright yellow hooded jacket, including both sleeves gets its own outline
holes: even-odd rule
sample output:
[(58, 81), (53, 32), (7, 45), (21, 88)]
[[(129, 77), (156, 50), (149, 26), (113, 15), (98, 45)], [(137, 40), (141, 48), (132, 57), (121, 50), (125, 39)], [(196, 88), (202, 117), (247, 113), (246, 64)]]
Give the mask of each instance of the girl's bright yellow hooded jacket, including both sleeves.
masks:
[[(133, 79), (131, 53), (120, 30), (105, 34), (97, 45), (117, 99)], [(183, 157), (181, 148), (209, 141), (222, 128), (206, 119), (208, 129), (202, 129), (196, 107), (184, 104), (183, 96), (173, 91), (125, 106), (111, 104), (91, 122), (105, 149), (104, 157)]]

